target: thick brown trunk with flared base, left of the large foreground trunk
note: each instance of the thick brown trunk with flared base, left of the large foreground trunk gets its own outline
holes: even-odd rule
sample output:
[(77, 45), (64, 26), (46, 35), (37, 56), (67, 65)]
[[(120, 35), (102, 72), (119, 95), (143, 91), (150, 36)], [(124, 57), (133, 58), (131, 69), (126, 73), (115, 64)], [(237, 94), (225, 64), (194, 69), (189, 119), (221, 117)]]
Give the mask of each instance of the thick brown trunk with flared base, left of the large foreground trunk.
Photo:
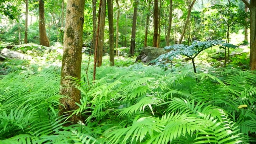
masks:
[(50, 42), (46, 36), (45, 21), (44, 21), (44, 0), (39, 0), (39, 39), (40, 45), (50, 46)]

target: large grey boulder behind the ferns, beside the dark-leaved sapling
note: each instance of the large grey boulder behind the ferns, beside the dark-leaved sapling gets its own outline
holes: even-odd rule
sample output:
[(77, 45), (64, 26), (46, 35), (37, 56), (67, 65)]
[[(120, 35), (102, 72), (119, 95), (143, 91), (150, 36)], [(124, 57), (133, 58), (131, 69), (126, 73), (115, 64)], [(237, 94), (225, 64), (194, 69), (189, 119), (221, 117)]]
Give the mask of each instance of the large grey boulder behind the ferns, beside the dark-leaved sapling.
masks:
[(136, 62), (141, 61), (143, 63), (150, 62), (151, 60), (156, 59), (161, 54), (165, 54), (166, 50), (164, 48), (154, 48), (154, 47), (146, 47), (143, 48), (138, 57), (136, 58)]

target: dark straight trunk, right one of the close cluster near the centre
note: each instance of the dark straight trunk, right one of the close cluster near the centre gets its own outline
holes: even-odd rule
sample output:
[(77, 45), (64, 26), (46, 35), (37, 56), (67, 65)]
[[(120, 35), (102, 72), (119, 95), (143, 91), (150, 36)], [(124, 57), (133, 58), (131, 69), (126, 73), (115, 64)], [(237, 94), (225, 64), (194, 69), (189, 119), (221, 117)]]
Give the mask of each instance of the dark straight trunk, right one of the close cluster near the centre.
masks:
[(108, 0), (108, 27), (109, 27), (109, 62), (110, 66), (115, 65), (114, 60), (114, 22), (113, 22), (113, 3)]

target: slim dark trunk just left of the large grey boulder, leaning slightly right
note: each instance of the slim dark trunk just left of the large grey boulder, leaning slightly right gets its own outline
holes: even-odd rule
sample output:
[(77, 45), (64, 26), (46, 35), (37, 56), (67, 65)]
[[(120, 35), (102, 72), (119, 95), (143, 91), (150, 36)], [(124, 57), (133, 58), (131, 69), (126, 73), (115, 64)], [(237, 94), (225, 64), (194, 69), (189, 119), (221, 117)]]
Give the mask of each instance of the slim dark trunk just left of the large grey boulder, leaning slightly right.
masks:
[(130, 46), (130, 56), (134, 56), (134, 51), (135, 51), (137, 10), (138, 10), (138, 0), (135, 0), (133, 19), (132, 19), (132, 38), (131, 38), (131, 46)]

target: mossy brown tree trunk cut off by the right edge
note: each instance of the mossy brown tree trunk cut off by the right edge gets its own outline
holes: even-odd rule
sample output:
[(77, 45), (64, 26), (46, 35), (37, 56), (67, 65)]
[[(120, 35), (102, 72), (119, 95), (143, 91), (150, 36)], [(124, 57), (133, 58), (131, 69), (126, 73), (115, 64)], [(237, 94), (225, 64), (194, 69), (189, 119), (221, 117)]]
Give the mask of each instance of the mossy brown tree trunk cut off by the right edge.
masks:
[(256, 70), (256, 0), (242, 0), (250, 10), (250, 68)]

